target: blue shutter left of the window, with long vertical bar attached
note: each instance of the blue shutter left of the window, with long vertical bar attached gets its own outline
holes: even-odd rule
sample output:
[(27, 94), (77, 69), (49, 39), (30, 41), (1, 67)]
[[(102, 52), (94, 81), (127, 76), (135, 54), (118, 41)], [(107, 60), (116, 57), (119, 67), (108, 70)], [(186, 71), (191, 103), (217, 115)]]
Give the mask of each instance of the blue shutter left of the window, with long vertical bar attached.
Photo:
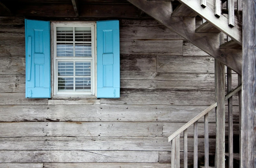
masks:
[(50, 22), (25, 19), (26, 98), (50, 98)]

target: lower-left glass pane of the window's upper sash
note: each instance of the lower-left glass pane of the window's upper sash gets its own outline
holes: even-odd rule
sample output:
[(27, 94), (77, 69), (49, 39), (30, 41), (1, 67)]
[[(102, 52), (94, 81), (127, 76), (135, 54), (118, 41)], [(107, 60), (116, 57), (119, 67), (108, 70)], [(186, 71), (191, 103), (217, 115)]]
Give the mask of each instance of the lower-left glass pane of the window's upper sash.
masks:
[(74, 56), (73, 43), (57, 42), (57, 56)]

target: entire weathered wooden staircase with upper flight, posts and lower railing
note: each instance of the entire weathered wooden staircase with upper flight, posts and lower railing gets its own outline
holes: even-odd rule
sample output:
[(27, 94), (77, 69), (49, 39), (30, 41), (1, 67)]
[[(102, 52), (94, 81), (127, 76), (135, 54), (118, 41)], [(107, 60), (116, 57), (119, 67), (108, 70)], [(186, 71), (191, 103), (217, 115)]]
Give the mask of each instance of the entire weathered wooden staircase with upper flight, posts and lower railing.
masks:
[[(215, 102), (192, 120), (174, 132), (168, 141), (172, 142), (172, 168), (180, 167), (180, 134), (184, 141), (184, 168), (187, 168), (187, 128), (194, 125), (194, 168), (209, 168), (208, 113), (215, 108), (216, 114), (216, 151), (215, 167), (225, 167), (225, 155), (228, 167), (233, 168), (233, 112), (232, 96), (239, 92), (239, 116), (241, 114), (241, 73), (242, 73), (242, 23), (241, 0), (237, 0), (235, 15), (234, 0), (178, 0), (173, 10), (173, 0), (127, 0), (134, 6), (155, 18), (187, 41), (215, 58)], [(225, 3), (226, 2), (226, 3)], [(224, 3), (227, 14), (222, 13)], [(196, 29), (195, 17), (202, 18), (202, 25)], [(226, 42), (224, 41), (226, 36)], [(227, 66), (228, 90), (225, 95), (224, 80)], [(231, 76), (234, 70), (238, 74), (238, 86), (231, 89)], [(228, 154), (225, 154), (225, 100), (228, 100)], [(198, 120), (204, 117), (205, 164), (198, 165)], [(239, 119), (240, 121), (240, 119)], [(240, 122), (239, 122), (240, 123)], [(239, 125), (239, 129), (241, 126)], [(241, 133), (240, 133), (241, 135)], [(241, 139), (241, 137), (239, 138)], [(241, 147), (241, 144), (240, 144)], [(239, 148), (240, 148), (239, 147)]]

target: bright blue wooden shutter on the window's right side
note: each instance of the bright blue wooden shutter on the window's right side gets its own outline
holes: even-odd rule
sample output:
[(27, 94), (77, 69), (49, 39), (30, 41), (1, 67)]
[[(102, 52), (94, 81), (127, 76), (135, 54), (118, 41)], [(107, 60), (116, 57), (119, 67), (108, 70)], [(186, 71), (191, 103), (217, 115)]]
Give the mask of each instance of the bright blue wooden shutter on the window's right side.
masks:
[(119, 21), (97, 21), (97, 97), (120, 97)]

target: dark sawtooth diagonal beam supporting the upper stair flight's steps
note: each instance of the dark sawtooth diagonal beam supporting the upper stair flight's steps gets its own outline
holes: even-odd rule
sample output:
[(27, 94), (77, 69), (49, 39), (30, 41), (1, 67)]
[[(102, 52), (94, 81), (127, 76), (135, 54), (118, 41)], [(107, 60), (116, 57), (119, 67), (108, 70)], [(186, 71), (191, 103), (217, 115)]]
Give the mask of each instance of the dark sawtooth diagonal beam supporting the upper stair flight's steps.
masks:
[(236, 71), (238, 74), (241, 74), (242, 50), (220, 49), (219, 33), (196, 33), (195, 18), (172, 17), (172, 3), (169, 1), (128, 1), (207, 54), (210, 54), (218, 61)]

